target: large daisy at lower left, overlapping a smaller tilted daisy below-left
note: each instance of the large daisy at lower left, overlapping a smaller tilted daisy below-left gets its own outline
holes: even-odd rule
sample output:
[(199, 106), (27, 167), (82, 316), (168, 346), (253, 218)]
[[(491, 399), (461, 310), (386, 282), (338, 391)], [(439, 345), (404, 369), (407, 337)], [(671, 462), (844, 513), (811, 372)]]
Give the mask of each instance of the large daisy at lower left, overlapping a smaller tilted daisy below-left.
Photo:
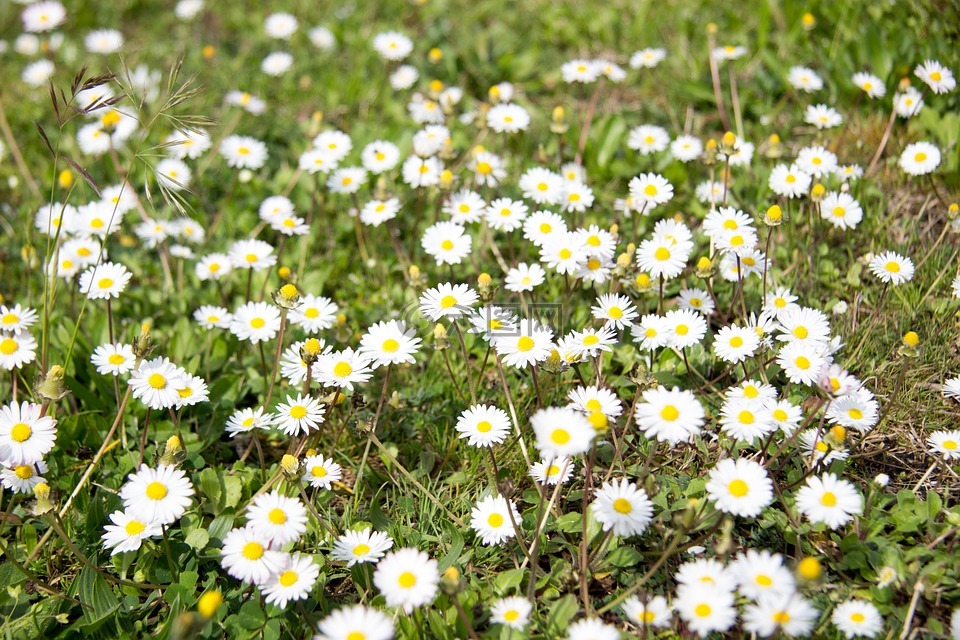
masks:
[(193, 483), (183, 470), (165, 464), (156, 469), (141, 464), (120, 489), (127, 513), (161, 525), (179, 520), (193, 502), (193, 494)]

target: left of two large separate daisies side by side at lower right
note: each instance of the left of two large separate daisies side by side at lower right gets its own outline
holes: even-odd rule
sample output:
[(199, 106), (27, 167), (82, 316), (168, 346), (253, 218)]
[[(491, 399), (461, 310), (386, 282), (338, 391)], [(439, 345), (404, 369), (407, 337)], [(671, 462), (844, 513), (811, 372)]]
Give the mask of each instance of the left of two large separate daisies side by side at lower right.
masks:
[(724, 513), (755, 518), (773, 502), (773, 483), (753, 460), (725, 458), (710, 470), (707, 496)]

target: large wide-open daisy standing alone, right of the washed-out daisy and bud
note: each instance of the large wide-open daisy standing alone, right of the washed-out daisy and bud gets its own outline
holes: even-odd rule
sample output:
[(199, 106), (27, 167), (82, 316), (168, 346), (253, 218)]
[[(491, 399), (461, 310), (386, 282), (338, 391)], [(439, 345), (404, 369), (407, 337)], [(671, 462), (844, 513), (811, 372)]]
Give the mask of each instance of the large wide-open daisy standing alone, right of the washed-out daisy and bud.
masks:
[(643, 402), (634, 410), (634, 420), (646, 437), (674, 446), (700, 433), (705, 414), (692, 392), (656, 387), (644, 391), (642, 397)]

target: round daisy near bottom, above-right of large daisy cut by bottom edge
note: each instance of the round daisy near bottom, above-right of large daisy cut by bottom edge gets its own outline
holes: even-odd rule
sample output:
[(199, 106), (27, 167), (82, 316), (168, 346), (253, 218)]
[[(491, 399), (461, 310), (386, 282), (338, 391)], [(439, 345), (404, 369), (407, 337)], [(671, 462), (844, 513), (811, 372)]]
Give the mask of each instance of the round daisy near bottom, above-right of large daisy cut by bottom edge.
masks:
[(407, 615), (428, 605), (437, 595), (437, 561), (422, 551), (404, 548), (388, 553), (377, 564), (373, 583), (388, 607), (402, 607)]

